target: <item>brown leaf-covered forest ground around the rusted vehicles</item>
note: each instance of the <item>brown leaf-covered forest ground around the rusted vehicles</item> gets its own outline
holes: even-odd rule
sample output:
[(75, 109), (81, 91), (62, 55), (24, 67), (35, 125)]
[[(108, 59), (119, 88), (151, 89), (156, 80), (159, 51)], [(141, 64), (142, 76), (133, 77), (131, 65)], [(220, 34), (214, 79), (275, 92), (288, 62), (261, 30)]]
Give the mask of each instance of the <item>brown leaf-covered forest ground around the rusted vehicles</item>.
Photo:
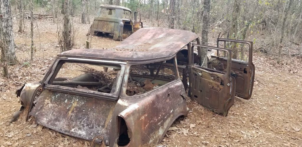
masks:
[[(33, 120), (8, 123), (20, 108), (15, 90), (23, 83), (41, 80), (60, 52), (56, 24), (39, 19), (34, 26), (36, 52), (30, 61), (30, 24), (27, 20), (25, 23), (25, 33), (20, 34), (18, 22), (14, 21), (19, 63), (10, 66), (11, 79), (3, 79), (0, 74), (0, 147), (90, 146), (90, 142), (38, 126)], [(85, 47), (89, 26), (75, 24), (78, 32), (74, 48)], [(210, 34), (210, 45), (214, 45), (215, 33)], [(119, 44), (110, 37), (93, 37), (91, 42), (92, 48), (100, 49)], [(284, 57), (283, 64), (278, 65), (276, 59), (260, 53), (253, 57), (255, 85), (250, 100), (236, 97), (229, 115), (224, 117), (188, 99), (190, 113), (173, 123), (172, 130), (157, 146), (302, 146), (301, 59)]]

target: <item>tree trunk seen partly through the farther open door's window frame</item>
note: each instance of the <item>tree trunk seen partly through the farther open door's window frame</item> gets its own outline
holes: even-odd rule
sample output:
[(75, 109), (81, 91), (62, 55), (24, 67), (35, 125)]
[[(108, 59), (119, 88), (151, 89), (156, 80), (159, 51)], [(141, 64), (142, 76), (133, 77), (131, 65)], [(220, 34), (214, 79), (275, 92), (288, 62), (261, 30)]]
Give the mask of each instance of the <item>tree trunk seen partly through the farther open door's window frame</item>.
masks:
[[(239, 15), (240, 15), (240, 5), (241, 5), (241, 0), (234, 0), (234, 5), (233, 5), (233, 12), (232, 12), (232, 21), (231, 21), (231, 29), (230, 29), (230, 38), (231, 39), (238, 39), (238, 24), (239, 24)], [(231, 48), (232, 48), (232, 57), (234, 59), (237, 58), (237, 45), (236, 43), (232, 42), (231, 43)]]

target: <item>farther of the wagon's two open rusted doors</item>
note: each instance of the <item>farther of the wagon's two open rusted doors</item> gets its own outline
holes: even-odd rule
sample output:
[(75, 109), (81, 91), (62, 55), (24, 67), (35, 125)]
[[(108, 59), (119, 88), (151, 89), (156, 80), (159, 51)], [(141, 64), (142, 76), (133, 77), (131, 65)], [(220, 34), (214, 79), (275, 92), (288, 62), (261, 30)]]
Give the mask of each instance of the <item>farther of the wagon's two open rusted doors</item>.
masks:
[[(217, 38), (217, 47), (219, 47), (220, 41), (224, 42), (224, 48), (226, 48), (226, 42), (247, 44), (249, 47), (248, 61), (232, 59), (231, 67), (231, 75), (236, 78), (236, 96), (249, 100), (252, 96), (255, 78), (255, 66), (252, 62), (253, 43), (251, 41)], [(222, 64), (226, 64), (226, 60), (220, 61)]]

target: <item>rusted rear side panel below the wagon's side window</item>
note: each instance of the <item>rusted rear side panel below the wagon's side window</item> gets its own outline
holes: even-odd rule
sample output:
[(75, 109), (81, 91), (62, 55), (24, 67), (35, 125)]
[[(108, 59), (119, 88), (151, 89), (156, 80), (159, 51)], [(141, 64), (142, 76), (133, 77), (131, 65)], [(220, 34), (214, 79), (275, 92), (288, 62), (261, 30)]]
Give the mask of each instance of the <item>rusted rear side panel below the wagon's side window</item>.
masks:
[[(123, 99), (118, 100), (115, 114), (123, 117), (129, 128), (130, 143), (127, 146), (159, 144), (175, 119), (188, 114), (184, 96), (181, 80), (159, 87), (152, 93), (122, 94)], [(112, 137), (118, 138), (114, 132)], [(117, 140), (111, 140), (112, 144), (117, 145)]]

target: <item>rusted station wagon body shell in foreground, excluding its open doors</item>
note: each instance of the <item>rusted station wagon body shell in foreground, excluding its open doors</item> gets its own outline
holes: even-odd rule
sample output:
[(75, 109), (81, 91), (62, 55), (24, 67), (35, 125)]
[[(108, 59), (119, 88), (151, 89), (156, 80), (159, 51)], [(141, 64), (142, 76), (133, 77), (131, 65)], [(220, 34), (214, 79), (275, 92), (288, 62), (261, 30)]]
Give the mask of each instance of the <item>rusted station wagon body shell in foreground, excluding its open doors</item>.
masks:
[[(63, 52), (41, 81), (43, 90), (36, 97), (30, 115), (36, 118), (37, 123), (50, 129), (87, 140), (100, 137), (109, 146), (118, 146), (118, 120), (122, 118), (130, 138), (126, 146), (156, 145), (175, 119), (188, 114), (184, 85), (177, 74), (176, 80), (161, 87), (127, 96), (130, 66), (173, 58), (176, 61), (177, 52), (197, 38), (196, 34), (188, 31), (142, 28), (109, 50)], [(50, 79), (61, 60), (120, 64), (119, 85), (114, 93), (101, 94), (51, 85)], [(177, 69), (177, 64), (175, 67)]]

